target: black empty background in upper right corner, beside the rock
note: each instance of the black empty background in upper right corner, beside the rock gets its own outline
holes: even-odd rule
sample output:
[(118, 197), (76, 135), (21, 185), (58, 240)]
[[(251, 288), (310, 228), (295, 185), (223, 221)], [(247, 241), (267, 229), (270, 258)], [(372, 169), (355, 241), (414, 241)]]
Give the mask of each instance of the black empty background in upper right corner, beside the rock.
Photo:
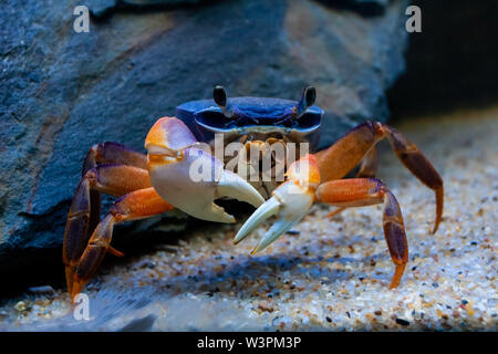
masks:
[(498, 23), (494, 1), (412, 1), (423, 12), (423, 32), (409, 35), (406, 70), (387, 91), (391, 118), (498, 101)]

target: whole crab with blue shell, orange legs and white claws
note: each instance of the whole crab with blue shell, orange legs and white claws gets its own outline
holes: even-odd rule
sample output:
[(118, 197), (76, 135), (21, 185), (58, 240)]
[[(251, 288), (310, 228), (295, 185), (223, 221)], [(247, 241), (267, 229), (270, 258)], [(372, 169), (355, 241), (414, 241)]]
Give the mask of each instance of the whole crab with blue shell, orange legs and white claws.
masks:
[[(111, 246), (116, 223), (149, 218), (174, 208), (203, 220), (235, 222), (234, 216), (215, 202), (224, 198), (257, 208), (238, 230), (235, 243), (267, 218), (277, 218), (252, 253), (290, 230), (314, 202), (339, 207), (330, 216), (350, 207), (383, 204), (383, 231), (394, 263), (390, 288), (398, 287), (408, 261), (408, 244), (400, 205), (387, 186), (375, 178), (378, 160), (375, 145), (386, 138), (405, 167), (434, 190), (433, 233), (443, 215), (443, 180), (413, 143), (380, 122), (360, 124), (330, 147), (317, 152), (324, 112), (314, 105), (315, 97), (317, 92), (310, 86), (299, 101), (229, 98), (224, 87), (216, 86), (212, 100), (187, 102), (176, 108), (176, 117), (159, 118), (145, 138), (146, 155), (117, 143), (94, 145), (84, 159), (64, 232), (63, 262), (72, 301), (107, 252), (123, 256)], [(216, 145), (216, 136), (224, 138), (222, 147), (239, 144), (237, 156), (243, 157), (238, 158), (241, 164), (237, 165), (237, 173), (236, 168), (228, 168), (231, 160), (216, 152), (212, 155), (210, 148)], [(274, 157), (276, 149), (271, 147), (278, 144), (288, 147), (290, 143), (304, 147), (303, 143), (309, 144), (308, 154), (303, 148), (293, 162), (284, 165), (284, 179), (241, 177), (242, 171), (258, 167), (262, 156)], [(246, 153), (253, 147), (261, 154), (247, 158)], [(360, 166), (356, 176), (344, 178), (356, 166)], [(270, 167), (274, 171), (276, 163)], [(204, 175), (210, 178), (193, 178), (193, 171), (198, 170), (207, 171)], [(257, 169), (256, 177), (263, 173)], [(118, 199), (100, 220), (102, 192)]]

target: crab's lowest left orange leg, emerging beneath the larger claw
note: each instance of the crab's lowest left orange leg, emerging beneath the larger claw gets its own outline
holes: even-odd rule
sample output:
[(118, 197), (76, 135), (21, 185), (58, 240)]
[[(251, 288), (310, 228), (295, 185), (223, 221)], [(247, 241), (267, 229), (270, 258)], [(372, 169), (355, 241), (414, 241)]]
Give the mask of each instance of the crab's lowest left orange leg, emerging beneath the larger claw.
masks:
[(66, 263), (68, 291), (71, 300), (90, 281), (105, 253), (116, 254), (117, 251), (111, 248), (114, 225), (149, 218), (172, 209), (173, 206), (164, 201), (153, 187), (132, 191), (117, 199), (108, 215), (93, 231), (83, 254), (77, 260)]

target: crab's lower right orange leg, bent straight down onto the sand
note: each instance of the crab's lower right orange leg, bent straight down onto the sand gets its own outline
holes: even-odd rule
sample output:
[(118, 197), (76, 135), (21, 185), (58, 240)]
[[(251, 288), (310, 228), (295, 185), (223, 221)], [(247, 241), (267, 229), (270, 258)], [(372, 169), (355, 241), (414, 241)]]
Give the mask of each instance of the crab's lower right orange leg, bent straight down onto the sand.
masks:
[(394, 195), (375, 178), (353, 178), (326, 181), (317, 189), (317, 199), (338, 207), (363, 207), (384, 202), (384, 237), (395, 264), (390, 289), (400, 285), (408, 261), (403, 216)]

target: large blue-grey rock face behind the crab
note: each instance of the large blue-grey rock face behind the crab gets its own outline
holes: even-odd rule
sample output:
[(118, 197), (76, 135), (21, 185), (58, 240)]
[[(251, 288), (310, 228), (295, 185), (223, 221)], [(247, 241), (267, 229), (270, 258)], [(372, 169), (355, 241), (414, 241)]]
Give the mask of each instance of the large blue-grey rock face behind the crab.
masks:
[(94, 143), (143, 149), (155, 119), (215, 84), (293, 100), (313, 84), (324, 146), (356, 122), (386, 119), (385, 91), (404, 69), (402, 0), (370, 17), (333, 1), (87, 1), (90, 33), (75, 33), (82, 3), (0, 4), (2, 273), (28, 251), (60, 248)]

